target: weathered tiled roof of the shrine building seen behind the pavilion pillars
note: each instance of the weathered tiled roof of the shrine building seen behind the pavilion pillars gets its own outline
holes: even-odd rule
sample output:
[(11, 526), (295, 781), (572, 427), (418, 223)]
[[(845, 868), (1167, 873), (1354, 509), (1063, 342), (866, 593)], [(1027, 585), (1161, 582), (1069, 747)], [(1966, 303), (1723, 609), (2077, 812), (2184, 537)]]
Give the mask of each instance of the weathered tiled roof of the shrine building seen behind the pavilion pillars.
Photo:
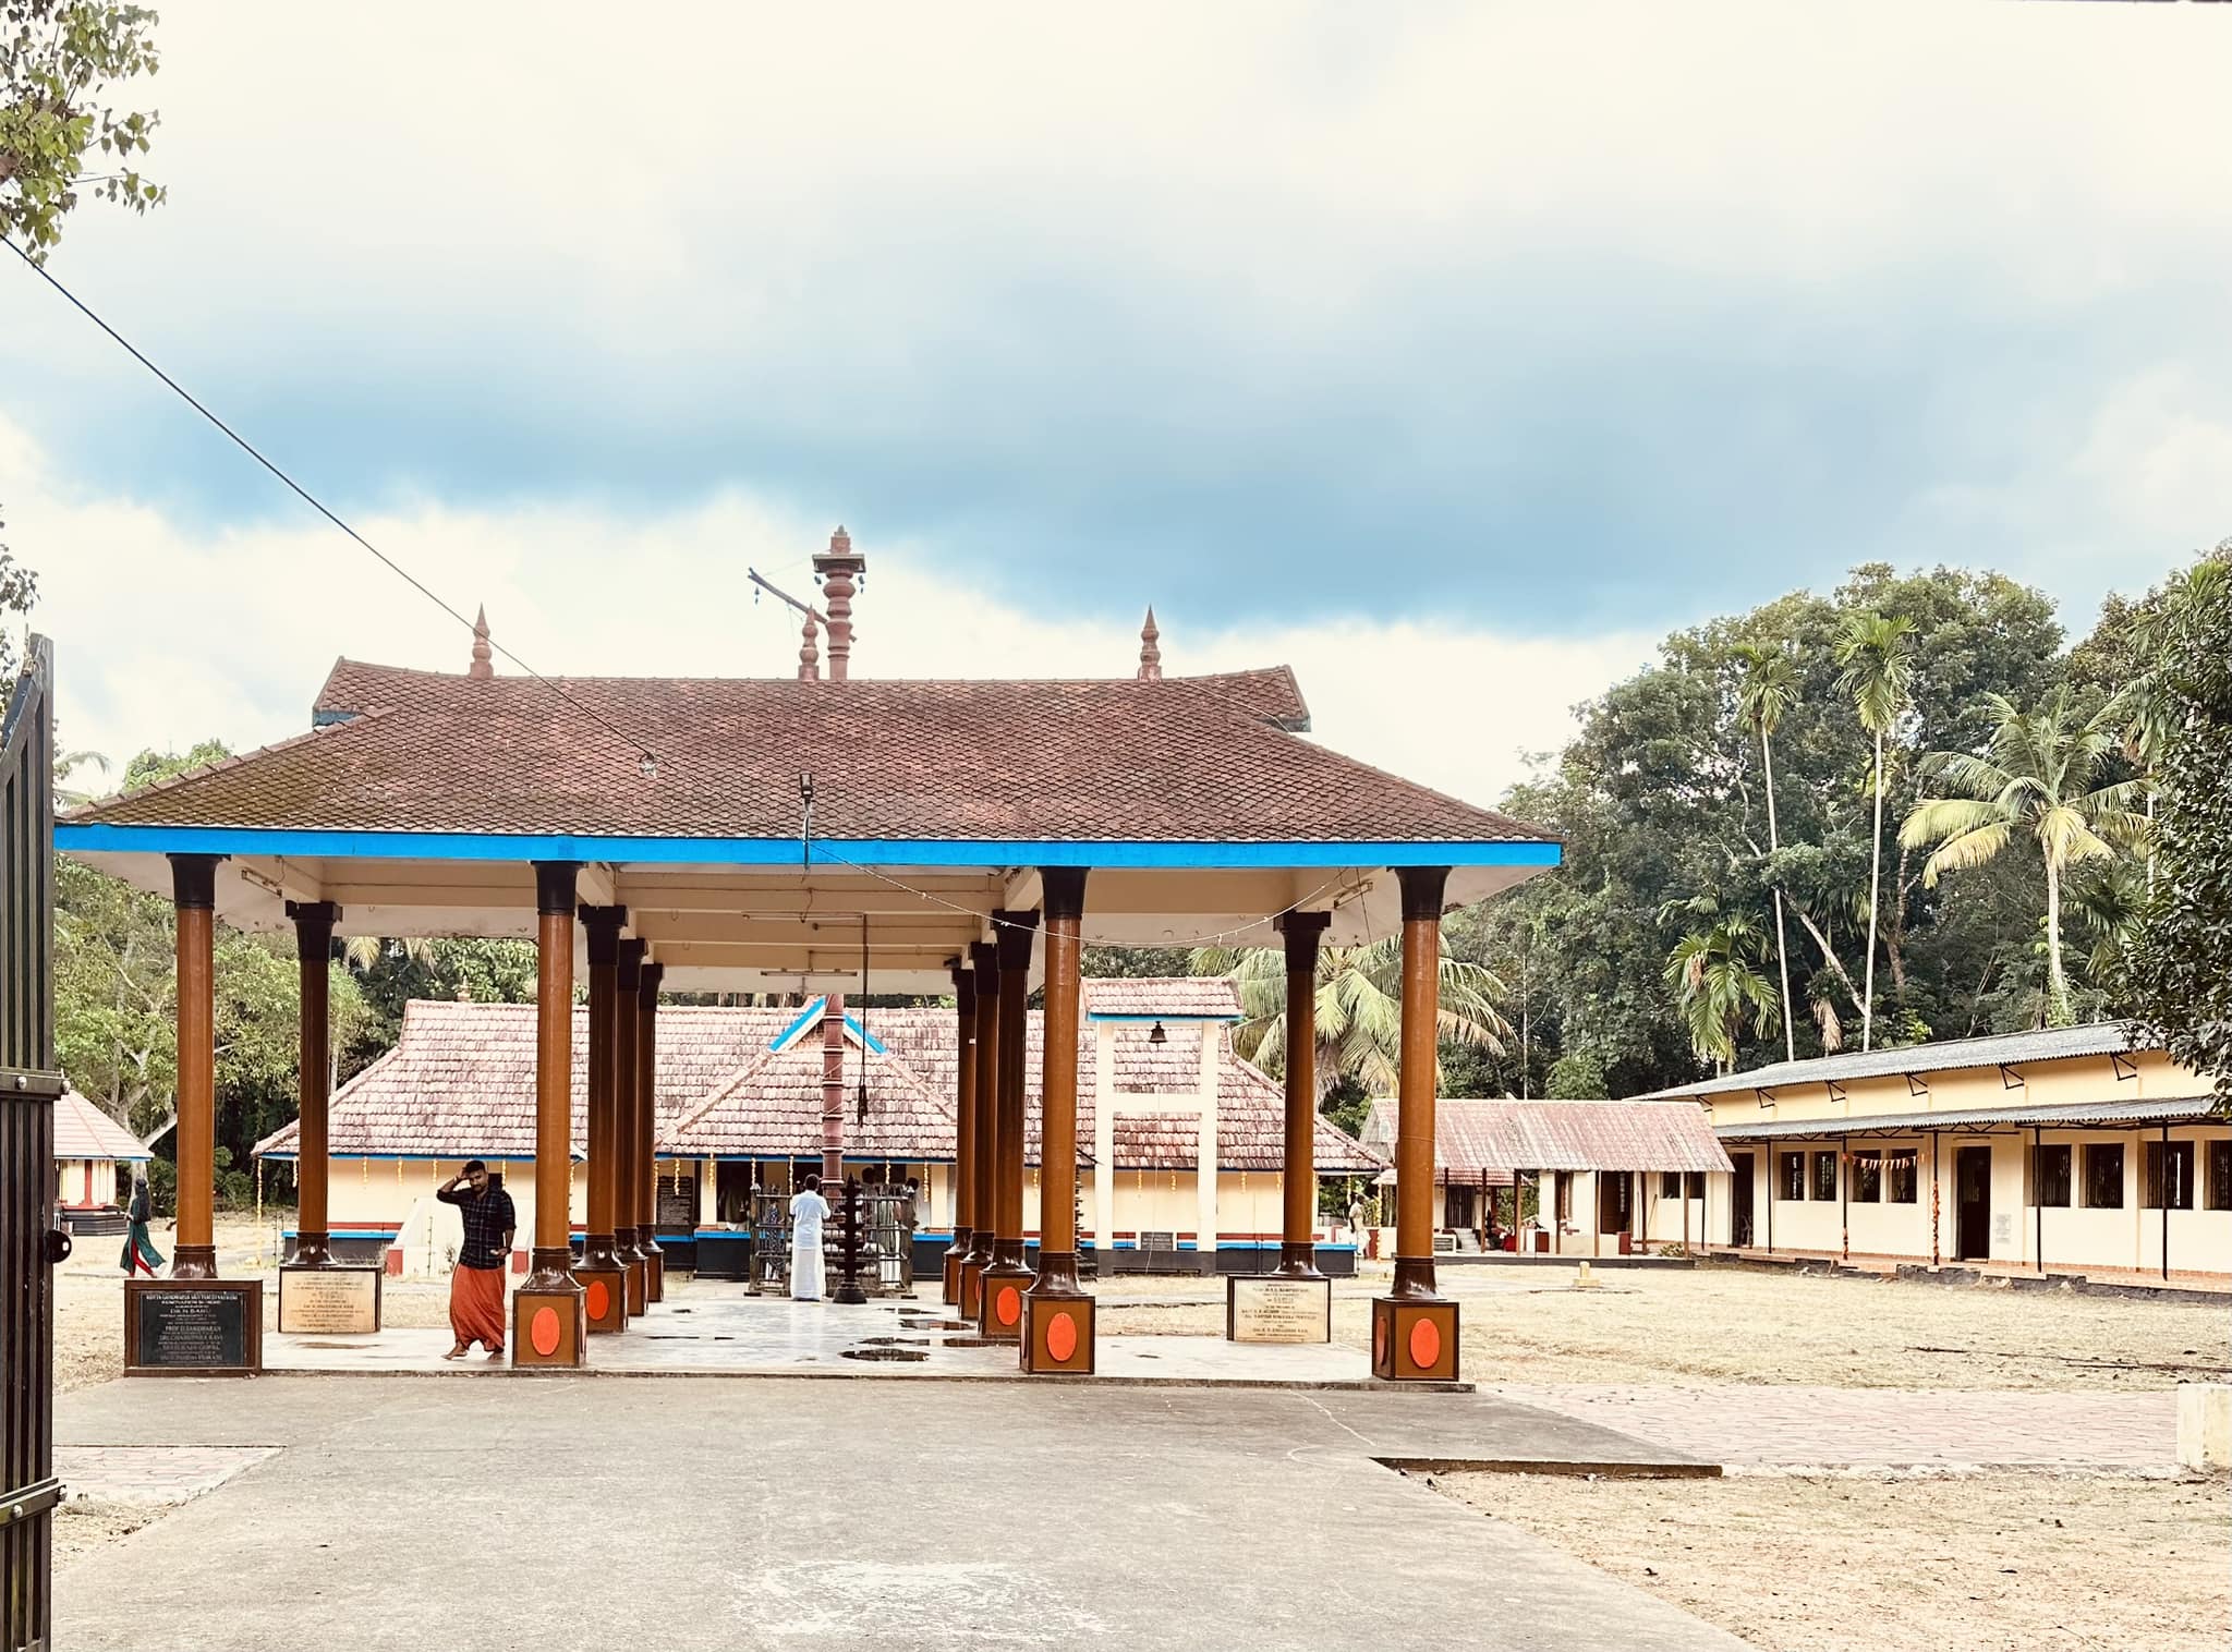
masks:
[[(674, 1156), (812, 1156), (821, 1152), (821, 1047), (801, 1040), (775, 1054), (770, 1040), (795, 1009), (667, 1005), (658, 1011), (658, 1152)], [(868, 1121), (857, 1121), (862, 1049), (846, 1047), (846, 1154), (951, 1163), (958, 1054), (951, 1009), (870, 1009), (868, 1031), (888, 1049), (866, 1056)], [(1024, 1154), (1038, 1163), (1038, 1074), (1042, 1016), (1029, 1018)], [(1286, 1096), (1232, 1056), (1232, 1029), (1176, 1022), (1167, 1043), (1147, 1027), (1120, 1027), (1116, 1083), (1123, 1092), (1194, 1092), (1201, 1034), (1219, 1040), (1216, 1159), (1225, 1170), (1279, 1170)], [(1094, 1152), (1096, 1031), (1078, 1036), (1078, 1150)], [(587, 1009), (574, 1011), (574, 1150), (585, 1143)], [(395, 1049), (333, 1094), (330, 1152), (339, 1156), (533, 1156), (533, 1005), (413, 1000)], [(1116, 1114), (1120, 1170), (1192, 1170), (1199, 1125), (1183, 1130), (1149, 1110)], [(257, 1143), (292, 1154), (295, 1125)], [(1370, 1172), (1379, 1161), (1326, 1118), (1317, 1121), (1321, 1172)]]

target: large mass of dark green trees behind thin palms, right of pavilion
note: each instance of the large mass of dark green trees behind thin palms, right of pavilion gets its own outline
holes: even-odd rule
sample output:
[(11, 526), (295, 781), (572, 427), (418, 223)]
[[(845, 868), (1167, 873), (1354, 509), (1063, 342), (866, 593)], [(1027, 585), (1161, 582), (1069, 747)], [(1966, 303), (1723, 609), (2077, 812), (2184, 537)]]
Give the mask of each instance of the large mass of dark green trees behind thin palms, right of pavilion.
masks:
[[(1859, 1043), (1875, 737), (1839, 692), (1839, 645), (1861, 614), (1913, 621), (1908, 708), (1884, 732), (1884, 810), (1895, 819), (1920, 795), (1924, 752), (1984, 750), (1989, 694), (2036, 703), (2067, 670), (2040, 592), (1944, 567), (1899, 576), (1866, 565), (1826, 596), (1795, 592), (1667, 636), (1649, 667), (1582, 705), (1580, 732), (1502, 799), (1565, 839), (1562, 871), (1446, 922), (1455, 955), (1531, 982), (1533, 1072), (1507, 1056), (1498, 1092), (1533, 1080), (1542, 1094), (1538, 1074), (1569, 1056), (1594, 1063), (1612, 1096), (1696, 1078), (1703, 1060), (1665, 978), (1674, 944), (1699, 929), (1696, 897), (1772, 938), (1779, 891), (1797, 1054)], [(1754, 667), (1743, 650), (1788, 661), (1768, 750), (1757, 699), (1745, 705)], [(1924, 859), (1884, 839), (1877, 1043), (2031, 1025), (2047, 971), (2036, 862), (2000, 857), (1924, 889)], [(2096, 1002), (2087, 982), (2078, 1005)], [(1783, 1054), (1779, 1031), (1763, 1047), (1745, 1020), (1736, 1065)]]

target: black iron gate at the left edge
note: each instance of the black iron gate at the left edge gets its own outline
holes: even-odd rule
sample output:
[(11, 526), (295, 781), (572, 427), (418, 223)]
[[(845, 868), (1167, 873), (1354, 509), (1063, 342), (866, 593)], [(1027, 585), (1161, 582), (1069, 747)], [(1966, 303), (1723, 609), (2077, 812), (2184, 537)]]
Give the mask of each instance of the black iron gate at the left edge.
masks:
[(0, 737), (0, 1650), (47, 1645), (54, 1502), (54, 652)]

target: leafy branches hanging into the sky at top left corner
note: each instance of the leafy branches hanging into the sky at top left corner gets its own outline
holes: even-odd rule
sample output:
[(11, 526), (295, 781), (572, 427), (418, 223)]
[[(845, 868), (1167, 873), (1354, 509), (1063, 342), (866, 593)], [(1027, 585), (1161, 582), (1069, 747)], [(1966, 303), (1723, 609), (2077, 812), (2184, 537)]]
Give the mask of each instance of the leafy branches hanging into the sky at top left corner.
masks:
[(0, 241), (45, 263), (80, 190), (134, 212), (163, 203), (136, 163), (161, 116), (109, 98), (161, 67), (156, 20), (109, 0), (0, 0)]

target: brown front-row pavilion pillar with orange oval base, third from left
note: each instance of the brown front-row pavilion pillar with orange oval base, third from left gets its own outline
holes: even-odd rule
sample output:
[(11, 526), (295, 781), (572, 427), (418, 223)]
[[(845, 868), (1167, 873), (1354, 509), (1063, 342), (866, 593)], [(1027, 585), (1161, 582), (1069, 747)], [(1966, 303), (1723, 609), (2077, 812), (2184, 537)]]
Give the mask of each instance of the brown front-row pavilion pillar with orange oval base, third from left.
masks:
[[(1038, 1275), (1024, 1293), (1022, 1368), (1089, 1373), (1094, 1299), (1078, 1286), (1078, 1002), (1085, 868), (1045, 866), (1038, 882), (1047, 897), (1047, 1025), (1038, 1067)], [(1029, 962), (1029, 935), (1024, 935), (1027, 969)], [(1212, 1036), (1212, 1029), (1203, 1027), (1203, 1036)], [(1018, 1165), (1018, 1223), (1020, 1170)]]

